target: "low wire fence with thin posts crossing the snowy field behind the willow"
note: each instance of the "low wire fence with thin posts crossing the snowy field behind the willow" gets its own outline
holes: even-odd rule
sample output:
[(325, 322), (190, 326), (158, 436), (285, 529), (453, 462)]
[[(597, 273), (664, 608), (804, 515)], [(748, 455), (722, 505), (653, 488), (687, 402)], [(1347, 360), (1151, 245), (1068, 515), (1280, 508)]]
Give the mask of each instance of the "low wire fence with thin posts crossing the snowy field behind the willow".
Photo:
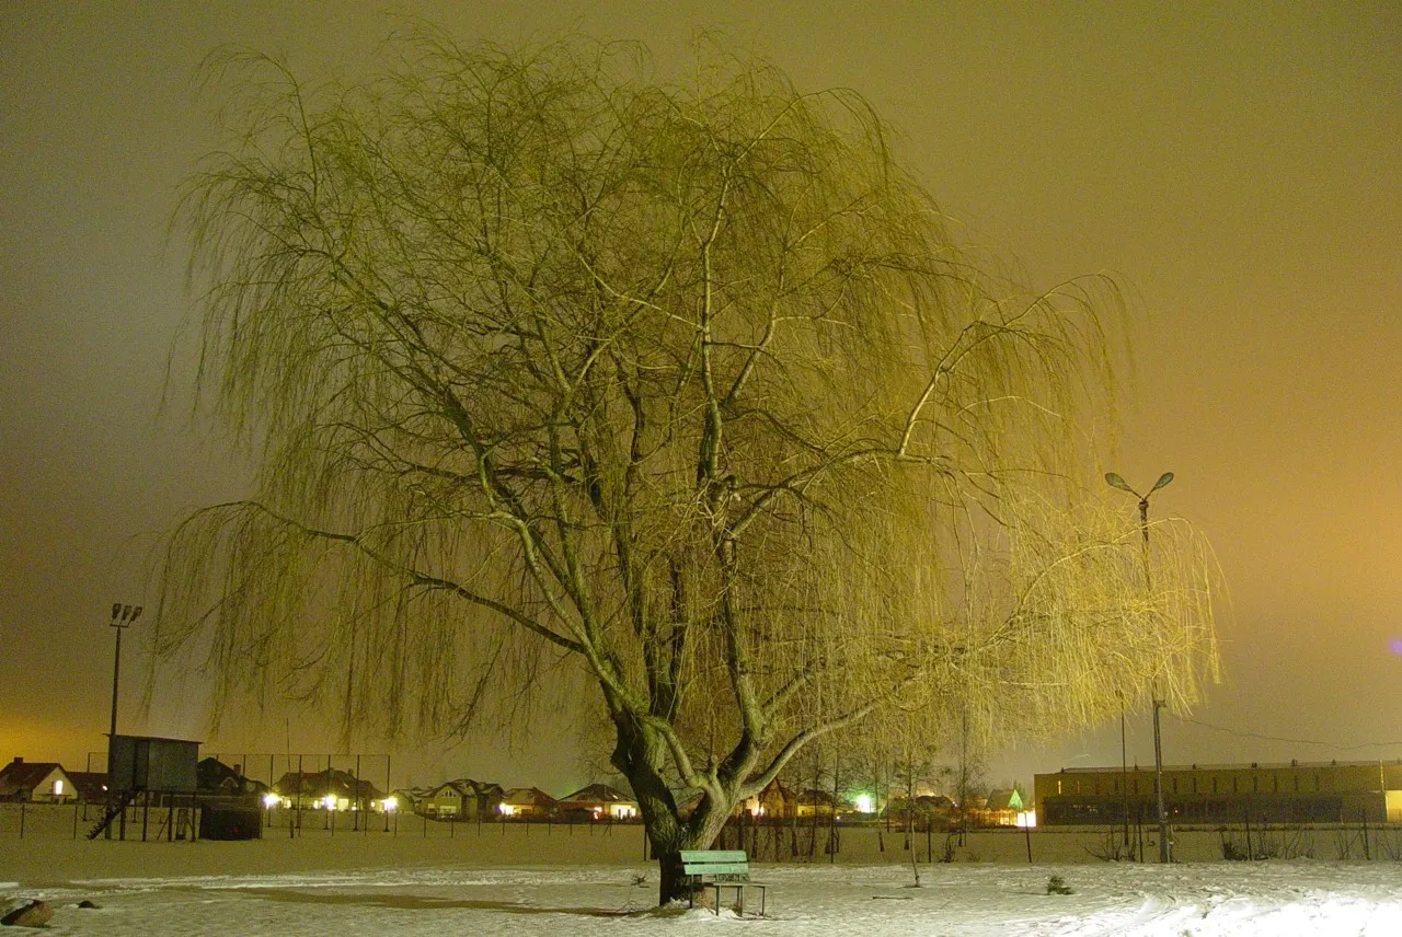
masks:
[[(299, 850), (306, 859), (334, 856), (338, 850), (373, 861), (422, 853), (444, 861), (465, 863), (641, 863), (645, 856), (642, 826), (625, 821), (566, 819), (430, 819), (411, 812), (365, 812), (360, 822), (349, 811), (264, 811), (262, 839), (247, 842), (202, 843), (179, 838), (182, 829), (167, 831), (167, 811), (150, 811), (147, 840), (140, 843), (142, 818), (128, 818), (128, 840), (149, 850), (192, 857), (215, 852), (227, 863), (243, 850), (258, 868), (257, 856)], [(27, 847), (79, 842), (95, 853), (111, 849), (112, 840), (87, 842), (84, 835), (102, 815), (102, 804), (0, 804), (0, 856), (6, 857), (0, 878), (22, 875)], [(198, 826), (198, 824), (196, 824)], [(171, 835), (175, 833), (175, 835)], [(168, 839), (170, 838), (170, 839)], [(1137, 847), (1137, 839), (1131, 845)], [(836, 850), (830, 847), (836, 845)], [(894, 824), (880, 821), (854, 824), (838, 821), (830, 831), (826, 818), (817, 825), (806, 819), (746, 821), (732, 824), (725, 835), (726, 847), (750, 853), (756, 863), (843, 863), (883, 864), (916, 861), (955, 863), (1096, 863), (1124, 859), (1120, 826), (1059, 826), (1033, 831), (995, 828), (949, 833), (942, 829), (916, 829), (911, 835)], [(1145, 831), (1145, 854), (1154, 856)], [(80, 854), (79, 853), (74, 854)], [(1180, 828), (1173, 831), (1176, 861), (1221, 861), (1224, 859), (1316, 859), (1402, 861), (1402, 826), (1361, 824), (1316, 825), (1244, 825)], [(198, 861), (195, 866), (198, 867)], [(339, 864), (339, 863), (332, 863)], [(227, 871), (222, 867), (223, 871)], [(191, 874), (195, 874), (193, 868)]]

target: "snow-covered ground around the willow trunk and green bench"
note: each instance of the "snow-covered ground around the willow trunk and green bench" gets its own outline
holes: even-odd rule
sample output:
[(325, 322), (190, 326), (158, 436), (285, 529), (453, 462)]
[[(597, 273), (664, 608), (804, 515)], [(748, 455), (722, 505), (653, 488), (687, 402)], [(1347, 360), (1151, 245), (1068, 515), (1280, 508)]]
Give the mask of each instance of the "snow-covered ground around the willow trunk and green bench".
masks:
[[(911, 887), (908, 866), (894, 863), (761, 864), (756, 878), (770, 885), (768, 915), (740, 919), (733, 912), (658, 910), (653, 866), (617, 854), (579, 861), (569, 847), (583, 842), (537, 836), (537, 861), (550, 863), (552, 850), (565, 859), (492, 864), (485, 846), (463, 861), (461, 839), (444, 846), (405, 838), (394, 850), (349, 836), (297, 843), (8, 840), (0, 842), (0, 898), (49, 902), (56, 912), (50, 933), (115, 937), (722, 933), (715, 929), (784, 937), (1402, 934), (1402, 864), (1394, 861), (951, 863), (921, 866), (921, 888)], [(257, 863), (269, 870), (251, 871)], [(287, 868), (296, 864), (321, 868)], [(215, 871), (220, 867), (229, 871)], [(1052, 875), (1073, 894), (1047, 894)], [(84, 899), (98, 908), (77, 908)]]

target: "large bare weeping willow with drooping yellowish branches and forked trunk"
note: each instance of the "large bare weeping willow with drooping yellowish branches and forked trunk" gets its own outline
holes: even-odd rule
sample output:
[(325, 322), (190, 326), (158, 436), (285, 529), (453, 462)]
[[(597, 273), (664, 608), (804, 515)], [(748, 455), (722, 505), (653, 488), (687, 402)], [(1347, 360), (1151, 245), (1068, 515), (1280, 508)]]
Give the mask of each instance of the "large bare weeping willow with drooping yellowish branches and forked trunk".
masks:
[(172, 534), (161, 654), (387, 733), (593, 688), (663, 901), (824, 734), (1195, 697), (1203, 549), (1157, 536), (1147, 590), (1082, 489), (1105, 284), (981, 273), (851, 91), (391, 49), (223, 62), (238, 132), (181, 217), (203, 399), (259, 469)]

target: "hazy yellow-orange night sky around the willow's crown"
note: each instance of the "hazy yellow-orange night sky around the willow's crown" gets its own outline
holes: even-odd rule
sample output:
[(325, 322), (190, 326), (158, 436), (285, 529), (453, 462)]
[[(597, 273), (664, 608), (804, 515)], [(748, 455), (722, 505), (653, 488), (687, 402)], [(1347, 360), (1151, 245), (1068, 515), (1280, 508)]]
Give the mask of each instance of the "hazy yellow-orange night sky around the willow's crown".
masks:
[[(0, 3), (0, 761), (102, 751), (111, 602), (150, 602), (154, 535), (243, 493), (189, 423), (177, 188), (217, 140), (223, 43), (310, 78), (372, 69), (423, 17), (463, 41), (578, 28), (660, 64), (719, 29), (903, 132), (959, 237), (1050, 287), (1109, 270), (1137, 368), (1108, 461), (1176, 473), (1155, 515), (1216, 546), (1224, 682), (1165, 761), (1402, 758), (1402, 7), (1284, 3)], [(760, 13), (758, 10), (763, 10)], [(184, 346), (177, 346), (181, 349)], [(1109, 457), (1106, 457), (1109, 459)], [(1122, 499), (1127, 521), (1134, 500)], [(123, 644), (121, 728), (205, 751), (327, 751), (293, 710), (210, 738), (198, 675)], [(181, 702), (186, 700), (186, 702)], [(1129, 758), (1152, 763), (1148, 716)], [(367, 741), (365, 751), (384, 751)], [(554, 744), (395, 749), (395, 783), (592, 780)], [(990, 780), (1119, 762), (1119, 726), (993, 759)], [(402, 773), (401, 773), (402, 772)]]

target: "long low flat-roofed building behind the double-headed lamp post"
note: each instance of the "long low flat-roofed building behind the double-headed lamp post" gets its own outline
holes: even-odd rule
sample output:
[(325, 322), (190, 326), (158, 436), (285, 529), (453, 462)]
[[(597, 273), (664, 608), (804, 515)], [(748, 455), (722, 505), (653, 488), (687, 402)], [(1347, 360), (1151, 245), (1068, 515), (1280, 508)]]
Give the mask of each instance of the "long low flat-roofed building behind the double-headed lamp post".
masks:
[[(1063, 768), (1033, 791), (1037, 824), (1157, 817), (1152, 768)], [(1402, 824), (1402, 761), (1165, 766), (1164, 805), (1175, 824)]]

